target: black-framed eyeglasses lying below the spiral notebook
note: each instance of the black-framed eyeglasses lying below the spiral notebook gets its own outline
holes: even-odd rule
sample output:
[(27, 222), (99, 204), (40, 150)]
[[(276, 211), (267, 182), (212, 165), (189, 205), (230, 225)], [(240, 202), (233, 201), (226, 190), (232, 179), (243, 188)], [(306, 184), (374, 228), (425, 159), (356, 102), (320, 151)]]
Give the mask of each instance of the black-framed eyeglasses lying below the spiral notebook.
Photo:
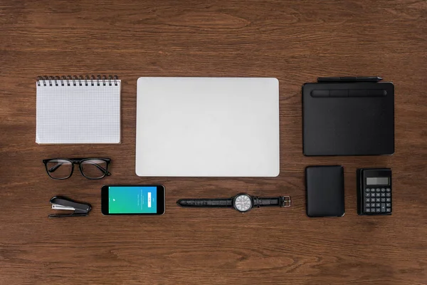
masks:
[(57, 180), (70, 178), (74, 165), (78, 165), (81, 174), (88, 179), (101, 179), (110, 176), (108, 165), (110, 158), (51, 158), (43, 160), (49, 177)]

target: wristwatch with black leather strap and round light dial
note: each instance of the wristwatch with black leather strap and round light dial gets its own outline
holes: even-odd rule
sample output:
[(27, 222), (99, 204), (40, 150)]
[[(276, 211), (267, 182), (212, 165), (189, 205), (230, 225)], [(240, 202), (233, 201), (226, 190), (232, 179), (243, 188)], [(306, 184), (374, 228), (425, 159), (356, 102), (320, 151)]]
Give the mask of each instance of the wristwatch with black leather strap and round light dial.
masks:
[(253, 207), (290, 207), (290, 196), (261, 198), (241, 193), (228, 199), (179, 199), (176, 204), (181, 207), (233, 207), (243, 213)]

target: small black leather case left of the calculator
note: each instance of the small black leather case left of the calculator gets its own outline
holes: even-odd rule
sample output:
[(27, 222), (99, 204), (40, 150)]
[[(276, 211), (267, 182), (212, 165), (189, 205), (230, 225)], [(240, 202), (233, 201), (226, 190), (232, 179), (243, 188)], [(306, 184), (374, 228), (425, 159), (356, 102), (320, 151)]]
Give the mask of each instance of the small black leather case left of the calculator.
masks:
[(305, 168), (308, 217), (344, 216), (344, 169), (342, 166)]

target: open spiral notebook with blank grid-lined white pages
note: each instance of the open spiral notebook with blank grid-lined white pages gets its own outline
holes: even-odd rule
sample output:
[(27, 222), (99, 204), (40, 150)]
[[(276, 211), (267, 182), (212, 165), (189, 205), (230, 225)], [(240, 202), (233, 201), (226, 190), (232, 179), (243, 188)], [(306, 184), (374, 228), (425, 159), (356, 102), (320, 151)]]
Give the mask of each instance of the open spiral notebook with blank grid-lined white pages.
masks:
[(38, 144), (120, 143), (117, 76), (40, 76), (36, 82)]

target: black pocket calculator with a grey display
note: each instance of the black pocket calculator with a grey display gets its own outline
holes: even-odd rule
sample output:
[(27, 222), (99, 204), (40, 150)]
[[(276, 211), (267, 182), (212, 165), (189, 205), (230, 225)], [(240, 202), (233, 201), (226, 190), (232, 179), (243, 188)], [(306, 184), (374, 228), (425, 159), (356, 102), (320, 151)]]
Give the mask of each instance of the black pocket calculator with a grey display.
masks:
[(391, 169), (361, 168), (357, 170), (357, 214), (391, 214)]

